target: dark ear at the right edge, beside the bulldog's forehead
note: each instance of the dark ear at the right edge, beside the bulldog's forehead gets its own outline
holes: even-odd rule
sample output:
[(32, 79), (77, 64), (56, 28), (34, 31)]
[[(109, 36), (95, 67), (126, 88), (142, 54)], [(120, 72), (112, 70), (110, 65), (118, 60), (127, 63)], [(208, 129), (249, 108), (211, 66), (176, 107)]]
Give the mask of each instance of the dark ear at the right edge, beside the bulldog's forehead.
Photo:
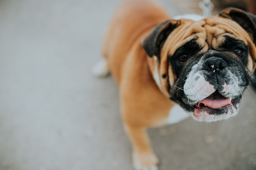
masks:
[(256, 16), (237, 8), (227, 8), (219, 14), (221, 17), (236, 21), (247, 31), (256, 44)]

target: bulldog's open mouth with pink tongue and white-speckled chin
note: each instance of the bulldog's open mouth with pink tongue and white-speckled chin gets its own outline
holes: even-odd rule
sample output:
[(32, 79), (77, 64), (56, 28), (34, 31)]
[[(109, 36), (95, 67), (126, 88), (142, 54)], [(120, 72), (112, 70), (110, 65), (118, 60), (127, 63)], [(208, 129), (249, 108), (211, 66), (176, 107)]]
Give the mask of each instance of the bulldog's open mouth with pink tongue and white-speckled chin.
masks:
[(239, 98), (232, 99), (222, 96), (218, 91), (209, 95), (195, 105), (193, 118), (199, 121), (212, 122), (228, 119), (238, 112)]

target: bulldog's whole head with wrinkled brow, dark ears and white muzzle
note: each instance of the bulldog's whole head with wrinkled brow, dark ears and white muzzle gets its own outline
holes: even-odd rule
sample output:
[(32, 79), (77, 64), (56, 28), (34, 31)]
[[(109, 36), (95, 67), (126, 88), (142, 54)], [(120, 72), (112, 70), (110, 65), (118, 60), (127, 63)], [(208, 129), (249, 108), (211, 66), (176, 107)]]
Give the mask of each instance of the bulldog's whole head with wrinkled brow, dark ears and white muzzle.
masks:
[(256, 17), (229, 8), (200, 21), (161, 23), (142, 46), (160, 90), (199, 121), (238, 113), (256, 67)]

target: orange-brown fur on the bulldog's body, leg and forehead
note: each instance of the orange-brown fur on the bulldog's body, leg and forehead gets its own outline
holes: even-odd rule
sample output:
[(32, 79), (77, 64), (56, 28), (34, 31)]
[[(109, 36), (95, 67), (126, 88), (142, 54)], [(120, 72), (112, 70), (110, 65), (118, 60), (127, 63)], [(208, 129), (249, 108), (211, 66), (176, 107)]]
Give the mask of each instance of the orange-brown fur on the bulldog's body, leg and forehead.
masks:
[[(225, 34), (232, 34), (249, 43), (248, 69), (252, 72), (256, 67), (253, 62), (256, 60), (255, 46), (249, 34), (236, 22), (224, 17), (210, 17), (199, 22), (181, 20), (179, 28), (172, 31), (161, 49), (157, 66), (161, 81), (159, 88), (152, 76), (154, 57), (147, 56), (141, 41), (154, 27), (168, 19), (169, 15), (157, 4), (149, 0), (130, 0), (119, 6), (105, 37), (103, 54), (119, 85), (122, 119), (134, 149), (133, 161), (137, 169), (158, 163), (146, 128), (162, 124), (175, 105), (169, 100), (169, 88), (177, 77), (168, 64), (168, 55), (193, 38), (204, 47), (204, 53), (217, 48)], [(166, 77), (162, 77), (163, 74)]]

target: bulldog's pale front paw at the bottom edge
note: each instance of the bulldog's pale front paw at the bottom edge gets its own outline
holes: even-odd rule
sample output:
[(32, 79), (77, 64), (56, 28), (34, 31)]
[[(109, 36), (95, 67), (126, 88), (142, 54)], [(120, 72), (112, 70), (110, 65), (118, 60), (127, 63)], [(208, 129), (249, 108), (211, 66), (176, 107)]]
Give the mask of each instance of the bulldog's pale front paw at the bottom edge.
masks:
[(135, 170), (158, 170), (159, 160), (154, 153), (137, 153), (132, 155)]

